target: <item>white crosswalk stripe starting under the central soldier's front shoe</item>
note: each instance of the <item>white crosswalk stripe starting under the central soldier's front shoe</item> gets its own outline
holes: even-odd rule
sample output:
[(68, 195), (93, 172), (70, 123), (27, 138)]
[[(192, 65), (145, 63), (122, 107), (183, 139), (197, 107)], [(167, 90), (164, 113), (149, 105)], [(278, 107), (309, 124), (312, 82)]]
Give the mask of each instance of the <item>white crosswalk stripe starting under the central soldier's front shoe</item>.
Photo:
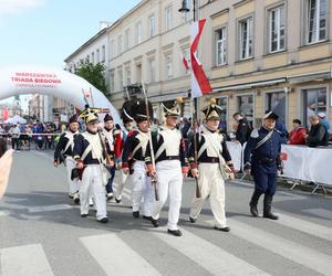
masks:
[[(160, 230), (163, 232), (160, 232)], [(177, 250), (212, 275), (269, 275), (210, 242), (181, 229), (183, 236), (175, 237), (166, 229), (153, 230), (159, 240)]]

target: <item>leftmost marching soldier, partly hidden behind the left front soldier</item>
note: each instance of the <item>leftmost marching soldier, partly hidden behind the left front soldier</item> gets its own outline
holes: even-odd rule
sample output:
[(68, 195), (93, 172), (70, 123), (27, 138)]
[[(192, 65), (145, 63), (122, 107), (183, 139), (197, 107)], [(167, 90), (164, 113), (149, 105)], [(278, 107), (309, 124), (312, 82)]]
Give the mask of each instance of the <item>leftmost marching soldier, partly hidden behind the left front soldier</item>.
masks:
[(80, 202), (79, 195), (79, 180), (73, 178), (73, 170), (76, 167), (76, 162), (73, 158), (74, 139), (80, 134), (77, 116), (73, 115), (69, 121), (69, 129), (65, 130), (59, 139), (54, 151), (54, 167), (60, 163), (64, 163), (66, 167), (68, 182), (69, 182), (69, 195), (75, 203)]

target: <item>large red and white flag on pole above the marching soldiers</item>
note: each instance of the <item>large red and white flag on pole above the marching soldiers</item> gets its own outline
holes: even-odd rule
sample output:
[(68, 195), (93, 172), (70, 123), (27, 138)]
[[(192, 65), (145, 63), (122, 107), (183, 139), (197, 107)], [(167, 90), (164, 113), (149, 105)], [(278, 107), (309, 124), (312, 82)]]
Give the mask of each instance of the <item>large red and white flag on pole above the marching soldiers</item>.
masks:
[(201, 38), (205, 23), (206, 19), (203, 19), (194, 22), (190, 25), (191, 98), (200, 97), (212, 92), (209, 79), (204, 72), (203, 65), (196, 56), (198, 43)]

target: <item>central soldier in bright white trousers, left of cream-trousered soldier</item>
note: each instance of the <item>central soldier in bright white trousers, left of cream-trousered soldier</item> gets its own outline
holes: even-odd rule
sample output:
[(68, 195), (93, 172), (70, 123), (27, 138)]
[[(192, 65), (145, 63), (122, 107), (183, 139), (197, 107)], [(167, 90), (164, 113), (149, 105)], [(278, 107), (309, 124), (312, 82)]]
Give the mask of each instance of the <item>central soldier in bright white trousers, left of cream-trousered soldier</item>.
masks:
[[(180, 131), (177, 129), (179, 108), (177, 103), (163, 104), (165, 124), (152, 134), (153, 152), (149, 145), (146, 149), (145, 161), (148, 172), (157, 179), (159, 199), (155, 201), (152, 223), (159, 226), (160, 211), (169, 194), (168, 233), (181, 236), (177, 223), (181, 205), (181, 188), (184, 177), (188, 173), (188, 160), (186, 157), (185, 142)], [(156, 167), (153, 167), (153, 157)]]

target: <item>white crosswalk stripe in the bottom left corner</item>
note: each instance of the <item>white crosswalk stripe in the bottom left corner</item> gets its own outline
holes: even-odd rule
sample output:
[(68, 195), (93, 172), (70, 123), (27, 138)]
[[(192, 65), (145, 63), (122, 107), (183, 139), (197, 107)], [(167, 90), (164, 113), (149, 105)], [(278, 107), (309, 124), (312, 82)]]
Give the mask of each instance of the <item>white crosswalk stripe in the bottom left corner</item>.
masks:
[(41, 244), (0, 250), (0, 275), (51, 276), (52, 268)]

